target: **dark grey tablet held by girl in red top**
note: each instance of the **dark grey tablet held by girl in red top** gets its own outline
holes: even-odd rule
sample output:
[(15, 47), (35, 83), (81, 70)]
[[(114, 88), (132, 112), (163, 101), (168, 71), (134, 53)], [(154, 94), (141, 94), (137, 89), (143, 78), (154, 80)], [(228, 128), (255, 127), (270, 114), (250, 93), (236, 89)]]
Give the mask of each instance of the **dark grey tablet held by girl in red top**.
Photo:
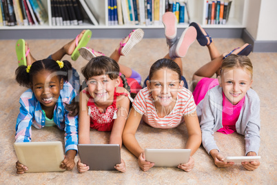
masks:
[(121, 163), (119, 144), (78, 144), (81, 163), (90, 166), (90, 171), (114, 171)]

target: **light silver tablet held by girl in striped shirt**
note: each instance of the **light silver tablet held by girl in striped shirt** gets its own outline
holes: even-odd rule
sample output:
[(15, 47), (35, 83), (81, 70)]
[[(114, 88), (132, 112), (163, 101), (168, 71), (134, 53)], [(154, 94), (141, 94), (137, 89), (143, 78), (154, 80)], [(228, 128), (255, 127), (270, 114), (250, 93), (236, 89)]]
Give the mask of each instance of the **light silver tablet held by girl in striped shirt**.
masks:
[(190, 149), (150, 149), (145, 148), (145, 159), (156, 167), (176, 167), (189, 162)]

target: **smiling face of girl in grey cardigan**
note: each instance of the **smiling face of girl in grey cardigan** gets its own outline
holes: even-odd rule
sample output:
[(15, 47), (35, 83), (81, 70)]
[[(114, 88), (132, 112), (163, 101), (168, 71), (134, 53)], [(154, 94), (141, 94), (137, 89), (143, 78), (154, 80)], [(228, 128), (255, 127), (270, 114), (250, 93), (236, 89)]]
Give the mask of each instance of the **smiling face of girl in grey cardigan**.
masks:
[(223, 88), (225, 97), (233, 104), (245, 97), (252, 85), (252, 75), (243, 68), (225, 69), (221, 72), (219, 84)]

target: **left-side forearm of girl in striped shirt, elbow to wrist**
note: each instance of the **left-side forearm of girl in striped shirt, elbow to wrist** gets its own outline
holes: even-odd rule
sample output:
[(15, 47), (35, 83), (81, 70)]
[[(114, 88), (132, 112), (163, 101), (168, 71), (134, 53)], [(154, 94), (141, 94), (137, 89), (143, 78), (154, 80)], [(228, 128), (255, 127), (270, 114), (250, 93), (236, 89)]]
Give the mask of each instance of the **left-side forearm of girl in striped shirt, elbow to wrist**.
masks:
[(141, 155), (141, 153), (144, 151), (141, 146), (139, 146), (139, 142), (136, 141), (136, 137), (134, 137), (134, 135), (131, 133), (123, 134), (123, 143), (124, 146), (138, 158), (139, 155)]

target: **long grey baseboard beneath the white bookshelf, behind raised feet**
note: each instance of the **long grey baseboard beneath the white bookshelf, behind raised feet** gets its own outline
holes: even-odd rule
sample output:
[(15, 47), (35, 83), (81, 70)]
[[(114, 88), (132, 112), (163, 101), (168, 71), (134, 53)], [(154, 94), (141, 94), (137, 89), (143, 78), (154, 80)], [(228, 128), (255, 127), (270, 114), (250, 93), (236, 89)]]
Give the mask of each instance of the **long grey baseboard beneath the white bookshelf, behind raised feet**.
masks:
[[(0, 30), (0, 39), (72, 39), (82, 29), (28, 29), (28, 30)], [(91, 29), (92, 39), (122, 39), (130, 33), (130, 28)], [(144, 38), (165, 38), (164, 28), (143, 28)], [(185, 28), (178, 28), (181, 36)], [(240, 38), (243, 28), (205, 28), (213, 38)]]

